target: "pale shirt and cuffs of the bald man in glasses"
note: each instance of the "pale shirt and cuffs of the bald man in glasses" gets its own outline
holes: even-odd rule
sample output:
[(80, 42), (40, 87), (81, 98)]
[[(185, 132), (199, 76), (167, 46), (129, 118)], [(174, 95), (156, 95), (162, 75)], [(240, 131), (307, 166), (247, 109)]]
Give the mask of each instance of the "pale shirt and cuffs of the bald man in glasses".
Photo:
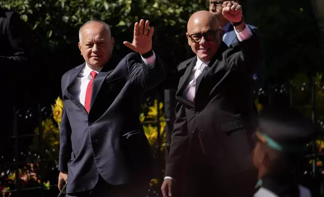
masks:
[[(239, 32), (239, 33), (236, 31), (235, 27), (234, 27), (234, 30), (235, 30), (235, 34), (237, 36), (237, 39), (240, 42), (251, 38), (251, 36), (253, 35), (251, 29), (247, 25), (244, 28), (244, 30), (241, 31), (241, 32)], [(205, 63), (208, 65), (209, 62), (205, 62)], [(197, 57), (196, 66), (193, 68), (193, 70), (192, 70), (192, 72), (191, 72), (191, 74), (189, 76), (190, 77), (190, 82), (189, 82), (189, 84), (187, 85), (187, 87), (185, 88), (185, 90), (183, 92), (183, 94), (185, 95), (185, 97), (187, 97), (188, 90), (189, 90), (191, 84), (193, 84), (192, 81), (194, 80), (195, 73), (196, 73), (197, 69), (200, 67), (201, 64), (202, 64), (202, 61)], [(165, 179), (173, 179), (173, 178), (170, 177), (170, 176), (166, 176)]]

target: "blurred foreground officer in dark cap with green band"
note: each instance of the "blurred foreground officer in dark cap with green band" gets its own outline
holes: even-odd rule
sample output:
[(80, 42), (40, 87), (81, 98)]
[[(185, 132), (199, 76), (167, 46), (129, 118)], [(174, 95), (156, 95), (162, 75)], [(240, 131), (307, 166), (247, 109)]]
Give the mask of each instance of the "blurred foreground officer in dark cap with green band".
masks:
[(297, 183), (295, 171), (313, 137), (312, 122), (292, 109), (266, 108), (255, 134), (253, 163), (259, 180), (254, 197), (311, 196)]

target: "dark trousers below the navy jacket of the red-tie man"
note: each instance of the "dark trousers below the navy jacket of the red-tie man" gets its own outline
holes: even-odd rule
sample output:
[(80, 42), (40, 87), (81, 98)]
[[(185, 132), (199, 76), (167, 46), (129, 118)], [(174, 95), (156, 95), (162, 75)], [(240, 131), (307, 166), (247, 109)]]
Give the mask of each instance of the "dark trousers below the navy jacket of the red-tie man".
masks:
[[(148, 186), (148, 183), (147, 183)], [(68, 193), (66, 197), (145, 197), (146, 191), (142, 185), (125, 184), (111, 185), (107, 183), (102, 176), (99, 177), (98, 183), (92, 190), (76, 193)]]

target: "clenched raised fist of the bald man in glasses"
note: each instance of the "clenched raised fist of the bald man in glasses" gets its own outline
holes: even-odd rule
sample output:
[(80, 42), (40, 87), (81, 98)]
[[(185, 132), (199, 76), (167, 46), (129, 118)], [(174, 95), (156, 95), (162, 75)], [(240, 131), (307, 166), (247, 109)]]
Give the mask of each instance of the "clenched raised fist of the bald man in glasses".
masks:
[(234, 1), (223, 2), (222, 15), (231, 23), (240, 22), (242, 19), (242, 7)]

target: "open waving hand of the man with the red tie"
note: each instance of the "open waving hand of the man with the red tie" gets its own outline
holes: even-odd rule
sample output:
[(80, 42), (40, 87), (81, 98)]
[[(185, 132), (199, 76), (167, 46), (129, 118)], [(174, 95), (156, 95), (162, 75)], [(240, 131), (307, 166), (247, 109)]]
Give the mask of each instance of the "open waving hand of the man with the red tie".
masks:
[(152, 35), (154, 27), (149, 28), (149, 21), (145, 22), (141, 19), (135, 23), (133, 42), (124, 41), (124, 45), (139, 54), (145, 54), (152, 49)]

